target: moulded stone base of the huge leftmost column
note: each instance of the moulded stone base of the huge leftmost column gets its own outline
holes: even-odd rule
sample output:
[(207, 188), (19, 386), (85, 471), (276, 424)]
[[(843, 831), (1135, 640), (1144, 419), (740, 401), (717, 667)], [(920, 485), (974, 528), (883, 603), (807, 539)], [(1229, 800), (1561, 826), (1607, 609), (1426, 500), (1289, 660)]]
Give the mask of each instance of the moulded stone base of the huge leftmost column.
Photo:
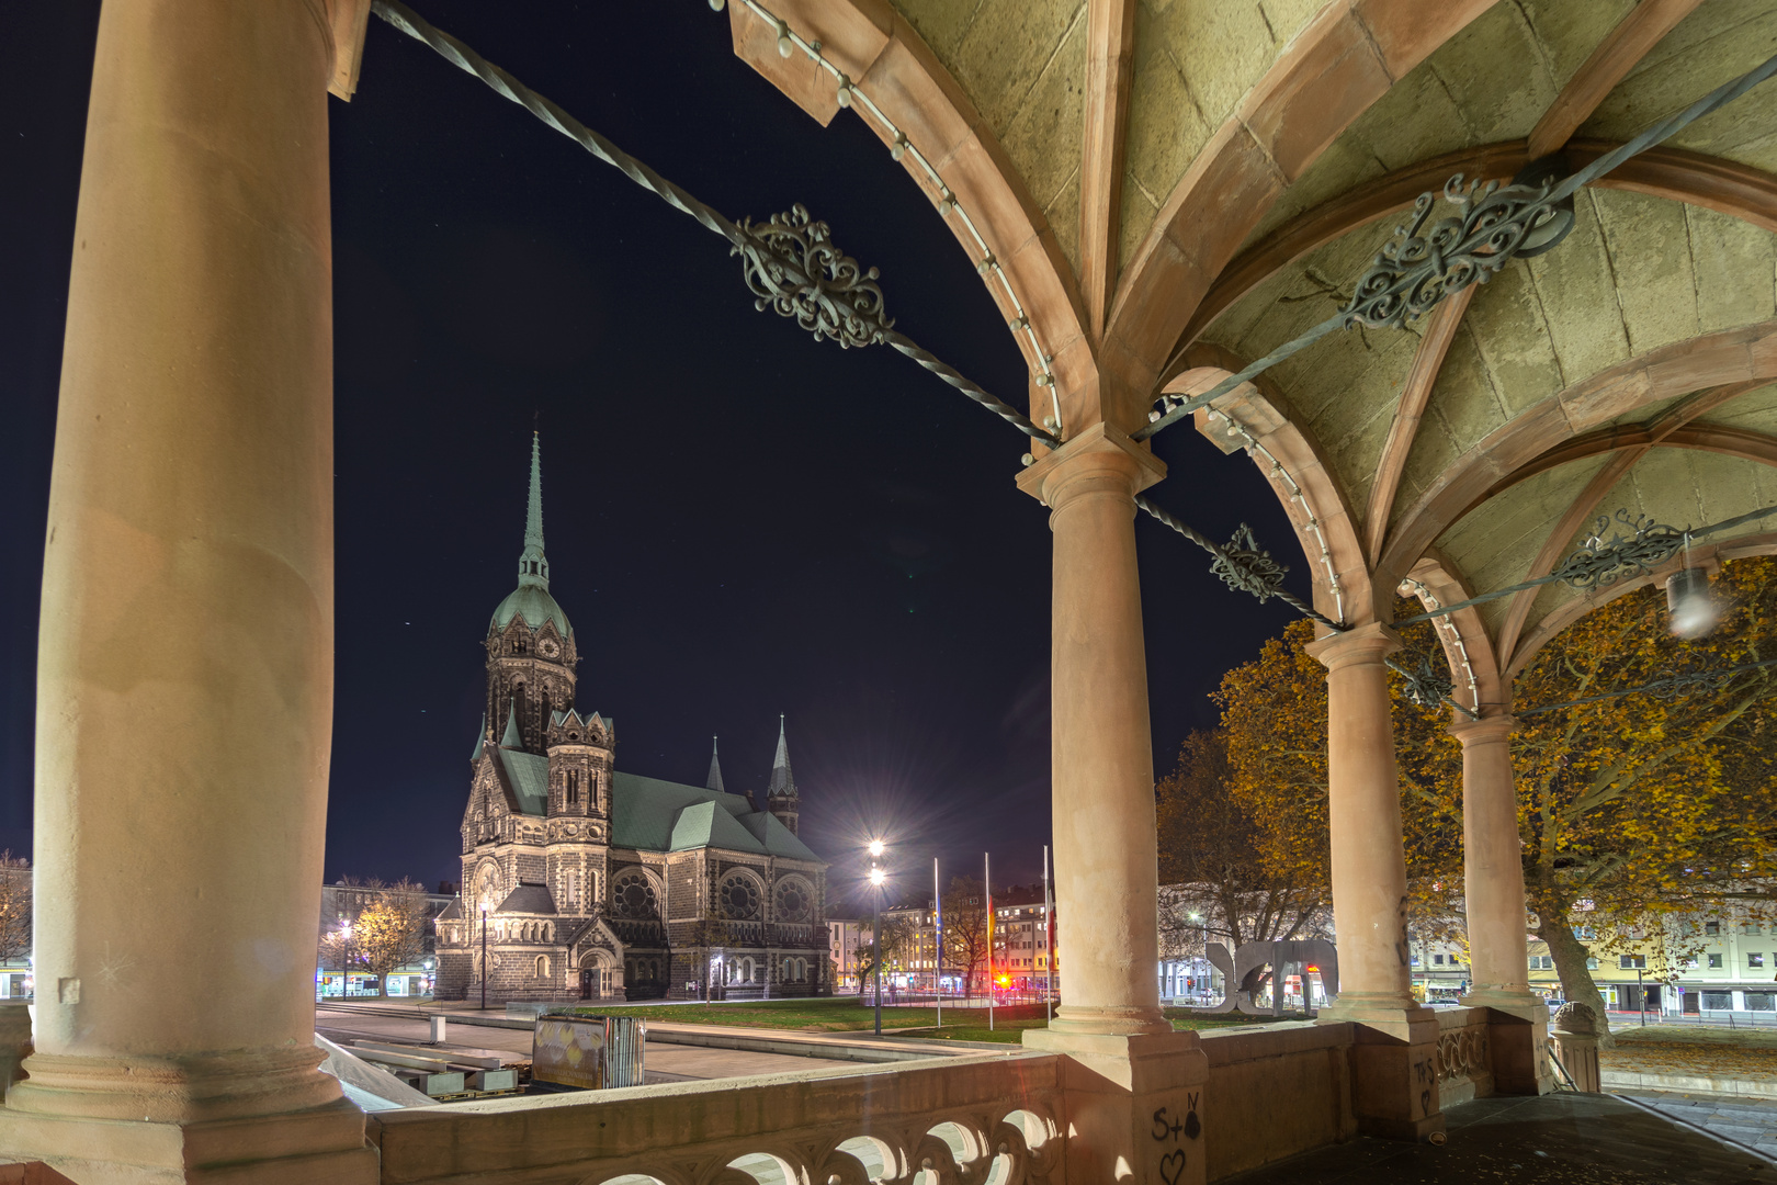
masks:
[(320, 1050), (192, 1061), (25, 1059), (0, 1107), (0, 1158), (76, 1185), (375, 1185), (364, 1112)]

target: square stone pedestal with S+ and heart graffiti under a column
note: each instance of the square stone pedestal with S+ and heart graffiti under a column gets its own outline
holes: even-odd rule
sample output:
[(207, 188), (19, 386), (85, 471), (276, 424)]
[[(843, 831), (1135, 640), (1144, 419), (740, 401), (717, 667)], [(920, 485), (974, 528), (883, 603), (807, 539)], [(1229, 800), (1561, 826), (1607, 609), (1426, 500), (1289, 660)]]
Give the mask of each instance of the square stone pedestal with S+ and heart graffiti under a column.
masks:
[(1066, 1180), (1203, 1185), (1203, 1087), (1194, 1032), (1134, 1036), (1031, 1029), (1025, 1048), (1066, 1055)]

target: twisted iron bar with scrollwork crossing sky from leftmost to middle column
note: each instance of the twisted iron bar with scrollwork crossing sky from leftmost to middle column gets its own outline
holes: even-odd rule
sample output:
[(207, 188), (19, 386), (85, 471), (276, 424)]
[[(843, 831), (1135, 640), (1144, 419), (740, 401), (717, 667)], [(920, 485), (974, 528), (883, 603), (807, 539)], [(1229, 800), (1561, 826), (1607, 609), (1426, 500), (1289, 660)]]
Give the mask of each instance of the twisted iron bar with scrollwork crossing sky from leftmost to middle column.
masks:
[[(679, 210), (681, 213), (686, 213), (691, 219), (695, 219), (697, 224), (702, 226), (704, 229), (721, 235), (732, 245), (734, 254), (741, 254), (748, 261), (748, 286), (752, 286), (753, 268), (759, 266), (764, 258), (769, 258), (771, 266), (775, 266), (780, 274), (778, 279), (775, 281), (780, 291), (761, 293), (757, 288), (753, 288), (755, 295), (766, 300), (764, 307), (775, 307), (785, 316), (794, 316), (800, 323), (803, 323), (801, 309), (805, 309), (810, 302), (819, 304), (825, 307), (826, 316), (817, 316), (816, 322), (823, 325), (832, 323), (833, 330), (837, 332), (828, 329), (816, 329), (814, 325), (805, 323), (805, 327), (816, 334), (816, 339), (823, 336), (832, 336), (835, 341), (841, 341), (842, 345), (867, 345), (880, 341), (881, 345), (887, 345), (897, 354), (912, 359), (922, 370), (936, 375), (951, 387), (961, 391), (976, 403), (986, 407), (990, 412), (993, 412), (995, 416), (1015, 426), (1018, 432), (1031, 437), (1032, 441), (1040, 441), (1050, 448), (1061, 448), (1061, 441), (1056, 435), (1031, 423), (1029, 416), (1025, 416), (1013, 405), (1006, 403), (1004, 400), (993, 396), (974, 380), (963, 377), (961, 371), (949, 366), (935, 354), (920, 348), (906, 334), (892, 329), (892, 322), (888, 322), (881, 313), (880, 290), (876, 290), (874, 300), (869, 298), (860, 300), (849, 295), (844, 284), (835, 282), (839, 281), (837, 272), (828, 270), (825, 277), (819, 274), (810, 275), (810, 272), (803, 265), (787, 258), (780, 251), (775, 251), (771, 238), (768, 235), (762, 235), (761, 229), (755, 229), (752, 222), (739, 226), (730, 222), (714, 208), (700, 203), (682, 187), (668, 181), (661, 174), (654, 172), (654, 169), (647, 167), (645, 163), (641, 163), (624, 149), (617, 147), (615, 144), (611, 144), (608, 139), (604, 139), (586, 124), (569, 115), (554, 101), (537, 94), (522, 82), (514, 78), (508, 71), (501, 69), (499, 66), (494, 66), (492, 62), (489, 62), (485, 57), (466, 46), (457, 37), (451, 37), (450, 34), (426, 23), (419, 14), (416, 14), (400, 0), (371, 0), (371, 12), (375, 12), (379, 18), (382, 18), (394, 28), (402, 30), (414, 41), (430, 46), (434, 52), (437, 52), (439, 57), (442, 57), (451, 66), (457, 66), (458, 69), (474, 75), (476, 78), (485, 82), (496, 94), (512, 99), (514, 103), (528, 110), (531, 115), (540, 119), (544, 124), (554, 128), (556, 131), (574, 140), (576, 144), (579, 144), (583, 149), (586, 149), (604, 163), (620, 171), (626, 178), (629, 178), (641, 188), (649, 190), (673, 210)], [(803, 211), (803, 217), (807, 219), (807, 211)], [(769, 227), (771, 222), (761, 226)], [(816, 224), (816, 226), (821, 226), (825, 235), (825, 224)], [(837, 256), (837, 252), (835, 252), (835, 261), (830, 263), (828, 268), (832, 268), (833, 265), (837, 265), (841, 272), (844, 272), (846, 268), (862, 272), (862, 268), (858, 268), (855, 259), (851, 259), (849, 256)], [(871, 275), (874, 277), (874, 268), (871, 268)], [(800, 297), (796, 293), (800, 293)], [(780, 297), (784, 297), (784, 300), (780, 300)], [(865, 341), (857, 341), (858, 332), (864, 334)]]

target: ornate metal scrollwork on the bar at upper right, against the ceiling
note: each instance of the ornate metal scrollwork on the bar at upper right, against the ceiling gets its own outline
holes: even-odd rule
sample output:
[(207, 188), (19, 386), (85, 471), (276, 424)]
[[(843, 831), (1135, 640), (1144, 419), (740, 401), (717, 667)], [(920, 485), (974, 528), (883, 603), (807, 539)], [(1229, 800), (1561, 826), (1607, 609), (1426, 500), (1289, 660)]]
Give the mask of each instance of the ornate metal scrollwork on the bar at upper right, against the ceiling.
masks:
[(1555, 162), (1534, 162), (1510, 185), (1445, 181), (1443, 199), (1457, 208), (1432, 222), (1438, 195), (1413, 203), (1413, 220), (1395, 227), (1368, 270), (1358, 277), (1343, 327), (1398, 327), (1470, 284), (1486, 284), (1507, 263), (1542, 254), (1573, 229), (1573, 195), (1555, 197)]

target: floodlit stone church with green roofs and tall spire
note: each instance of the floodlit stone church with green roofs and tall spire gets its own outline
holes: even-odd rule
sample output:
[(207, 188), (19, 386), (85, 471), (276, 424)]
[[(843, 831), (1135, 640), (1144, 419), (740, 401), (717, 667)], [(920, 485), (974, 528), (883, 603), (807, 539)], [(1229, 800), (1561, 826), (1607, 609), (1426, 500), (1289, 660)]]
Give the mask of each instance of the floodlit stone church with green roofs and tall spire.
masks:
[(764, 808), (617, 769), (617, 725), (576, 707), (579, 640), (549, 595), (540, 444), (519, 586), (487, 627), (462, 897), (437, 919), (439, 998), (826, 995), (826, 863), (796, 835), (778, 720)]

